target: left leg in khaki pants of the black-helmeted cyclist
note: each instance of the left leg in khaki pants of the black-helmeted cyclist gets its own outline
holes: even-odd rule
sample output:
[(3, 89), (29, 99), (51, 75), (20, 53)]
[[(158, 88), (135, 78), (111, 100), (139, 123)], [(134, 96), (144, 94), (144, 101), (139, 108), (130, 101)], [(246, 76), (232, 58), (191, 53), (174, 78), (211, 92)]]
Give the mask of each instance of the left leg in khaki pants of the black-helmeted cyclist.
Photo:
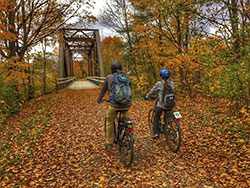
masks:
[(114, 141), (114, 120), (117, 116), (116, 108), (109, 105), (107, 113), (105, 144), (112, 145)]

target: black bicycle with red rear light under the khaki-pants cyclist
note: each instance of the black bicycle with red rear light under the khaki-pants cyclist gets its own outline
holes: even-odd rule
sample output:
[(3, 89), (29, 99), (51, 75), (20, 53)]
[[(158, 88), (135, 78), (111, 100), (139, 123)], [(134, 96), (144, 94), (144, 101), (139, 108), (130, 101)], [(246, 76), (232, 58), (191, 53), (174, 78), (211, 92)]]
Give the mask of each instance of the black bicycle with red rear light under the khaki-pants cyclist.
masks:
[[(117, 112), (118, 116), (114, 122), (114, 143), (119, 146), (121, 162), (125, 167), (129, 167), (134, 158), (133, 121), (129, 118), (121, 117), (123, 110)], [(105, 134), (106, 123), (107, 118), (105, 118)]]

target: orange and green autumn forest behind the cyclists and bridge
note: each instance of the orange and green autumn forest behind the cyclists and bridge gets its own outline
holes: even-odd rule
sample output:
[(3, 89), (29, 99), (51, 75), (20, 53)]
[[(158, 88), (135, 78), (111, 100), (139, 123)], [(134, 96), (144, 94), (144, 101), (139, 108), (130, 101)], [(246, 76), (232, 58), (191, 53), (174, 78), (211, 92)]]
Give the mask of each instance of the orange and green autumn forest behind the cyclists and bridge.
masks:
[[(28, 100), (55, 92), (57, 31), (78, 18), (119, 34), (102, 41), (105, 72), (121, 61), (135, 96), (144, 96), (168, 68), (178, 96), (224, 100), (229, 114), (249, 123), (248, 0), (110, 0), (97, 18), (93, 6), (85, 0), (0, 1), (1, 122)], [(33, 53), (37, 45), (41, 51)], [(86, 75), (84, 62), (75, 63), (75, 75)]]

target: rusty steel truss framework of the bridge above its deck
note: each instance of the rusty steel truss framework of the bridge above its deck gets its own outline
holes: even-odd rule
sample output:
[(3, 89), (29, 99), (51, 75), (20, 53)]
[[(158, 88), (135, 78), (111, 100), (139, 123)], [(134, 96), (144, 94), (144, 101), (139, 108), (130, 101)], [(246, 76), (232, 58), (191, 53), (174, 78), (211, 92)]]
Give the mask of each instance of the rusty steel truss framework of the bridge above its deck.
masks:
[(87, 57), (88, 76), (104, 76), (101, 42), (98, 29), (64, 28), (60, 30), (58, 62), (59, 78), (74, 76), (74, 53), (82, 53), (83, 57)]

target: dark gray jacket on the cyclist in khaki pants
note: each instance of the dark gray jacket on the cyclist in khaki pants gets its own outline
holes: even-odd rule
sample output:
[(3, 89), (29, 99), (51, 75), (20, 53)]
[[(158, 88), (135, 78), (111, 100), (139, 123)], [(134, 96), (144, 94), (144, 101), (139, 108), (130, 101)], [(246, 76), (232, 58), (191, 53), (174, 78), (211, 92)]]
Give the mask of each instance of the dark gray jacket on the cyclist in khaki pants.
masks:
[[(99, 94), (99, 97), (97, 99), (97, 101), (102, 101), (104, 95), (106, 94), (106, 92), (108, 91), (109, 94), (112, 92), (112, 85), (114, 82), (114, 75), (110, 74), (106, 77), (106, 80), (104, 81), (102, 88), (101, 88), (101, 92)], [(109, 100), (111, 99), (111, 95), (109, 95)], [(114, 108), (130, 108), (131, 107), (131, 103), (129, 104), (118, 104), (115, 102), (111, 102), (110, 100), (110, 105)]]

